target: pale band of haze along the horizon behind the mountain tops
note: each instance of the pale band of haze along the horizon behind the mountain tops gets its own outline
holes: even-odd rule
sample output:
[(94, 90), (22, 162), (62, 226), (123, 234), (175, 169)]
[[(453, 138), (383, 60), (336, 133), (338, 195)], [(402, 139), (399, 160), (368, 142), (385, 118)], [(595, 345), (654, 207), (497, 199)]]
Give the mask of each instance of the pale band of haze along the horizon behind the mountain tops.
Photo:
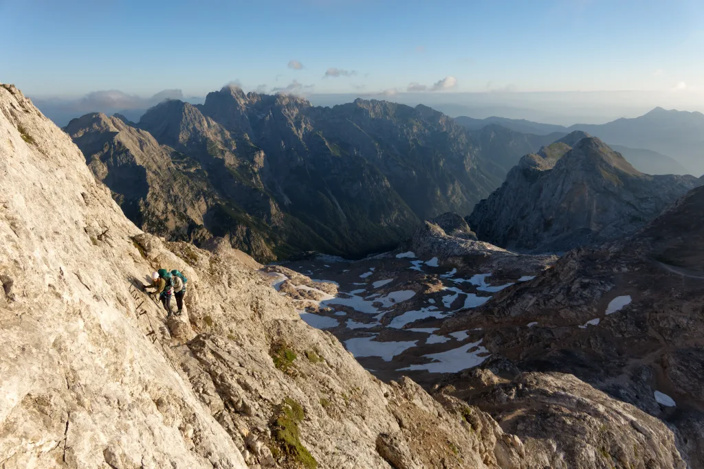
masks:
[[(216, 91), (216, 89), (213, 89)], [(246, 89), (243, 91), (247, 91)], [(255, 91), (255, 90), (249, 90)], [(260, 91), (261, 92), (261, 91)], [(128, 95), (122, 91), (96, 91), (80, 98), (44, 98), (32, 96), (37, 107), (58, 125), (86, 113), (108, 115), (122, 113), (137, 121), (148, 108), (164, 99), (180, 99), (191, 104), (203, 103), (205, 96), (184, 96), (178, 89), (164, 90), (153, 96)], [(642, 91), (536, 92), (536, 93), (462, 93), (452, 94), (308, 94), (312, 105), (332, 106), (351, 103), (356, 98), (379, 99), (406, 105), (427, 105), (451, 117), (460, 115), (484, 119), (508, 117), (569, 127), (573, 124), (603, 124), (620, 117), (638, 117), (656, 107), (699, 111), (691, 103), (679, 103)], [(617, 98), (617, 99), (615, 99)], [(704, 107), (703, 107), (704, 108)]]

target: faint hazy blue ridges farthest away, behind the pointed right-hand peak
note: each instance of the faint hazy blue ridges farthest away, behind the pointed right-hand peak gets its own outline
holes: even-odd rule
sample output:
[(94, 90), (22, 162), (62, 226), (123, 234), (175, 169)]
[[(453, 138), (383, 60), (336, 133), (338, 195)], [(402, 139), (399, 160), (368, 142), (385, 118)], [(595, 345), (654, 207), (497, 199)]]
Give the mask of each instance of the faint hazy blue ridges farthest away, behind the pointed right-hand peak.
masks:
[[(541, 124), (528, 120), (506, 119), (503, 117), (455, 117), (467, 129), (481, 129), (489, 124), (499, 124), (514, 131), (532, 134), (568, 133), (582, 130), (607, 142), (609, 145), (631, 148), (623, 153), (630, 156), (632, 163), (648, 174), (704, 174), (704, 114), (698, 112), (665, 110), (655, 108), (640, 117), (621, 118), (606, 124), (574, 124), (564, 127), (555, 124)], [(646, 154), (642, 150), (661, 153)], [(672, 159), (677, 162), (673, 164)], [(670, 172), (665, 172), (672, 167)], [(683, 172), (684, 169), (684, 172)]]

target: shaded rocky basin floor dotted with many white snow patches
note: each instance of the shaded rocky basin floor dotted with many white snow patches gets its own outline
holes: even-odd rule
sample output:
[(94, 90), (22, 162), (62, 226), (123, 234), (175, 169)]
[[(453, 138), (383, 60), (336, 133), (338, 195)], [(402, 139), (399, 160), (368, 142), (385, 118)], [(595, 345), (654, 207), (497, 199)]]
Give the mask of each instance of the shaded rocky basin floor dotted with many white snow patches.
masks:
[[(313, 283), (287, 276), (289, 269)], [(418, 259), (410, 251), (358, 262), (318, 257), (264, 270), (279, 295), (294, 300), (301, 319), (333, 333), (377, 378), (408, 375), (423, 385), (436, 383), (439, 373), (472, 368), (490, 356), (482, 346), (482, 328), (439, 333), (446, 319), (533, 278), (448, 269), (436, 257)]]

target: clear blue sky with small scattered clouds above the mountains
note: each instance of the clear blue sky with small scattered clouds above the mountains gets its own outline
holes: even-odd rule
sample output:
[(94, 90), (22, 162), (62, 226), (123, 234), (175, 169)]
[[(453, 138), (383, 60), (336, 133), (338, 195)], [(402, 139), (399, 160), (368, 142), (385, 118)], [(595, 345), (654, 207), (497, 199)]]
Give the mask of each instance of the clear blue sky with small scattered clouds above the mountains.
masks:
[(700, 0), (0, 0), (0, 41), (0, 82), (39, 99), (234, 83), (313, 102), (567, 108), (574, 91), (620, 91), (591, 104), (704, 110)]

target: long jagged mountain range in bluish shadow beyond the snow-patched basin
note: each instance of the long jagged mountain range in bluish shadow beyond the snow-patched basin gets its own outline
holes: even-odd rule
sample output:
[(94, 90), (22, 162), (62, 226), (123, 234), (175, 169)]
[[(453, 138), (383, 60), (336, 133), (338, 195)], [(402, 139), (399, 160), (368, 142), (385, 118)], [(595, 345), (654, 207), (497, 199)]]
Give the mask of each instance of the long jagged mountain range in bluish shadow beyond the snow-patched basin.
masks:
[[(261, 260), (307, 250), (357, 257), (390, 248), (421, 219), (471, 212), (508, 171), (485, 155), (489, 150), (473, 134), (422, 105), (358, 99), (316, 108), (296, 96), (244, 94), (225, 86), (203, 105), (171, 100), (149, 109), (137, 124), (113, 120), (131, 127), (130, 134), (144, 132), (145, 148), (182, 155), (190, 166), (179, 170), (181, 176), (203, 179), (208, 202), (182, 194), (200, 218), (178, 227), (174, 221), (160, 234), (177, 232), (196, 241), (225, 236)], [(82, 143), (78, 134), (84, 130), (74, 127), (80, 126), (72, 121), (67, 131), (87, 160), (104, 158), (100, 149)], [(109, 133), (102, 127), (91, 131)], [(161, 149), (146, 145), (152, 138)], [(517, 159), (526, 149), (508, 153)], [(149, 199), (143, 206), (142, 212), (184, 210)]]

